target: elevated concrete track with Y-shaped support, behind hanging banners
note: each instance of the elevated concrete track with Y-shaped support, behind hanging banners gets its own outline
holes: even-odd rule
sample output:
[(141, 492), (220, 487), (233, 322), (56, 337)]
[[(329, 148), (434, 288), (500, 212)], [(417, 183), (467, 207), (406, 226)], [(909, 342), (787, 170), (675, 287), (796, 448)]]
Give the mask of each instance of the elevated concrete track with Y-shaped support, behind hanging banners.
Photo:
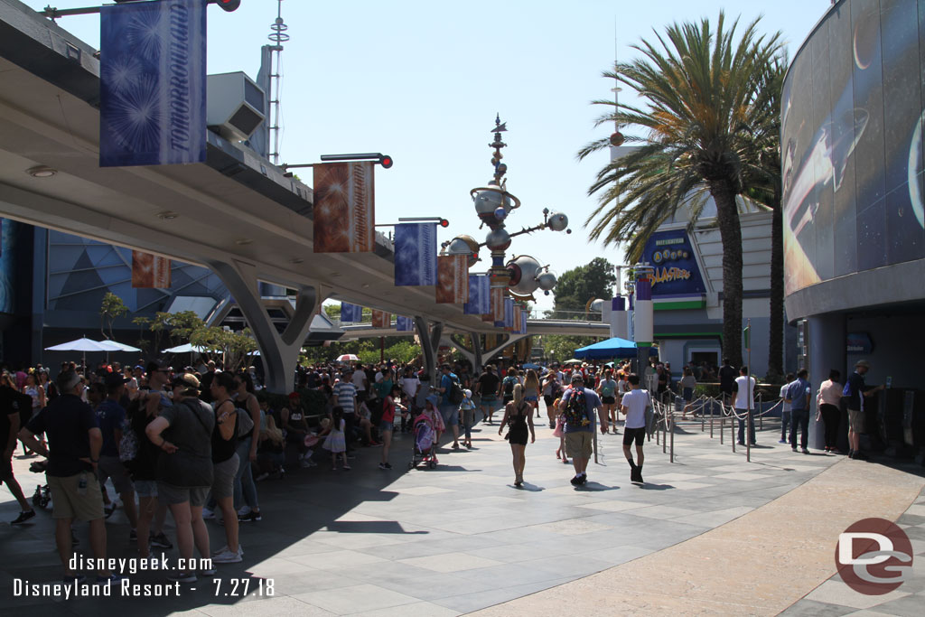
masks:
[[(396, 289), (384, 236), (374, 253), (313, 253), (312, 190), (215, 134), (203, 164), (99, 167), (95, 51), (17, 0), (0, 0), (0, 216), (212, 268), (252, 327), (275, 391), (291, 388), (311, 315), (327, 298), (418, 317), (425, 340), (444, 324), (494, 331), (435, 302), (431, 287)], [(39, 166), (56, 175), (27, 173)], [(297, 292), (282, 334), (258, 280)]]

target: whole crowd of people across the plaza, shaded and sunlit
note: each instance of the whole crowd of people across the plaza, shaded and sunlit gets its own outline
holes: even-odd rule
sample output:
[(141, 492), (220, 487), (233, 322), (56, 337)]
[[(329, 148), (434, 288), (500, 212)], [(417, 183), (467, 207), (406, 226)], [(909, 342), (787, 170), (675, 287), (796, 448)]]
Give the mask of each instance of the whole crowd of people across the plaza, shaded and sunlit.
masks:
[[(865, 387), (869, 367), (859, 361), (844, 387), (839, 372), (833, 371), (818, 389), (816, 421), (825, 424), (827, 451), (837, 451), (838, 405), (845, 398), (851, 425), (849, 455), (863, 457), (858, 436), (863, 431), (864, 401), (882, 389)], [(2, 480), (21, 509), (12, 524), (35, 516), (12, 470), (18, 439), (20, 458), (47, 458), (45, 473), (66, 582), (83, 579), (69, 566), (76, 542), (71, 525), (75, 520), (89, 522), (93, 554), (105, 557), (105, 519), (116, 510), (117, 500), (129, 521), (129, 540), (136, 543), (140, 556), (149, 556), (152, 549), (172, 549), (165, 533), (169, 512), (185, 561), (192, 562), (198, 550), (212, 563), (238, 562), (243, 556), (240, 525), (263, 519), (258, 482), (283, 477), (286, 465), (314, 467), (327, 457), (333, 471), (349, 471), (357, 447), (381, 448), (377, 466), (388, 471), (394, 433), (411, 432), (419, 422), (433, 427), (436, 444), (447, 433), (452, 436), (451, 443), (447, 441), (450, 450), (472, 449), (473, 426), (479, 421), (493, 426), (495, 414), (501, 413), (498, 434), (512, 450), (515, 487), (524, 486), (525, 450), (536, 440), (535, 419), (548, 422), (560, 438), (556, 456), (565, 464), (571, 459), (571, 482), (582, 486), (587, 483), (595, 427), (601, 435), (619, 434), (623, 416), (623, 454), (630, 479), (642, 483), (647, 410), (653, 397), (671, 391), (671, 366), (655, 362), (643, 375), (631, 373), (629, 363), (538, 368), (487, 364), (475, 375), (466, 364), (440, 364), (431, 376), (419, 366), (395, 362), (321, 364), (300, 367), (296, 389), (276, 398), (261, 388), (253, 367), (229, 371), (214, 362), (177, 371), (160, 361), (125, 367), (100, 364), (93, 371), (70, 363), (61, 366), (54, 381), (42, 366), (4, 370), (0, 434), (7, 439), (0, 462)], [(736, 371), (724, 362), (718, 376), (723, 396), (734, 409), (754, 408), (756, 380), (746, 366)], [(694, 367), (685, 366), (676, 385), (685, 401), (683, 418), (696, 387)], [(794, 451), (798, 433), (801, 450), (808, 451), (812, 392), (805, 370), (788, 376), (781, 389), (781, 442), (789, 441)], [(746, 438), (745, 416), (742, 413), (739, 422), (739, 443)], [(747, 437), (755, 443), (754, 425), (748, 426)], [(431, 460), (438, 462), (436, 454)], [(109, 495), (107, 480), (115, 495)], [(224, 526), (225, 545), (216, 551), (209, 546), (209, 519)], [(197, 574), (216, 573), (206, 568), (199, 573), (177, 571), (170, 577), (189, 583)], [(117, 578), (105, 570), (97, 576), (100, 581)]]

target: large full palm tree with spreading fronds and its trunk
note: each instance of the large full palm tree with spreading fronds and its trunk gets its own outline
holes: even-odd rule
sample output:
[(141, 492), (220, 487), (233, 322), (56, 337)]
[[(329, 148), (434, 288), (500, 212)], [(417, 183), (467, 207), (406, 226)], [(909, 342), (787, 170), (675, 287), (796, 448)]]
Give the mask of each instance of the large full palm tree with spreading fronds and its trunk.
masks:
[[(735, 197), (746, 191), (746, 178), (757, 175), (750, 168), (759, 162), (747, 156), (748, 112), (764, 67), (781, 47), (781, 34), (759, 35), (755, 19), (735, 43), (738, 20), (728, 30), (725, 21), (721, 11), (715, 32), (709, 19), (674, 23), (665, 38), (656, 32), (658, 45), (646, 40), (634, 45), (642, 57), (604, 72), (633, 88), (646, 106), (595, 101), (613, 108), (598, 118), (598, 126), (614, 122), (648, 134), (627, 137), (641, 147), (598, 172), (588, 194), (600, 191), (599, 204), (586, 225), (597, 219), (592, 240), (628, 241), (628, 256), (635, 260), (648, 236), (679, 207), (689, 207), (695, 221), (709, 192), (723, 246), (723, 355), (741, 364), (742, 229)], [(610, 145), (609, 138), (591, 142), (578, 157)]]

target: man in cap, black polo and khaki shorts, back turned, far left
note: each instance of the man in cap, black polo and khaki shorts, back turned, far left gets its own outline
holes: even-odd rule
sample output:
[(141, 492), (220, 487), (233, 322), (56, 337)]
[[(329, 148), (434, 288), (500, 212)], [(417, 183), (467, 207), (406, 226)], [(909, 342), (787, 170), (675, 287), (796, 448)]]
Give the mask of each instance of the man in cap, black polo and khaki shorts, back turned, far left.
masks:
[[(80, 376), (68, 370), (59, 374), (56, 382), (61, 396), (32, 418), (19, 431), (19, 438), (48, 458), (45, 478), (55, 505), (52, 518), (56, 523), (58, 557), (65, 568), (64, 582), (75, 584), (84, 579), (70, 567), (73, 553), (70, 524), (75, 518), (90, 523), (93, 557), (103, 560), (106, 556), (103, 493), (96, 479), (103, 434), (96, 424), (93, 408), (80, 400), (83, 389)], [(47, 448), (35, 438), (40, 433), (48, 437)], [(106, 582), (113, 577), (108, 570), (98, 570), (97, 580)]]

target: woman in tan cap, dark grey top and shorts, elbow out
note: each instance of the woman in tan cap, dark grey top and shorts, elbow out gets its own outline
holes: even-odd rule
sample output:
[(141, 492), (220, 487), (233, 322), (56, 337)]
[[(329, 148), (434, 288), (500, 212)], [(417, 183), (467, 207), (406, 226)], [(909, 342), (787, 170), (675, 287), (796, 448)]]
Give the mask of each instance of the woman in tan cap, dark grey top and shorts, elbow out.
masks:
[[(199, 379), (189, 373), (181, 378), (187, 387), (179, 390), (179, 401), (174, 399), (173, 405), (161, 410), (144, 433), (161, 450), (156, 468), (157, 496), (166, 501), (173, 514), (179, 555), (189, 563), (194, 543), (203, 559), (212, 557), (209, 531), (203, 521), (203, 505), (212, 486), (212, 431), (216, 416), (209, 405), (199, 400)], [(159, 395), (146, 395), (147, 413), (153, 415), (160, 402)], [(179, 583), (195, 583), (196, 573), (176, 570), (167, 578)]]

